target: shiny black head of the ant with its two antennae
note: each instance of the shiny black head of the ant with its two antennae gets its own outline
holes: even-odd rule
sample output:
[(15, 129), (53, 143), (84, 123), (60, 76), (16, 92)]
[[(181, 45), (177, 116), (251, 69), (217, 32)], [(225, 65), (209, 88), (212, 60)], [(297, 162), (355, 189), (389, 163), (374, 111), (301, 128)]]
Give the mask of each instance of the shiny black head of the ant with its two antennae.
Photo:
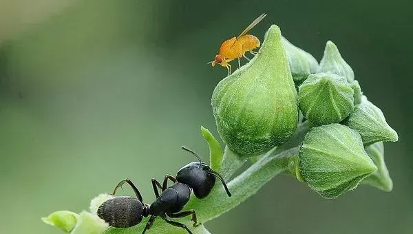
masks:
[(193, 194), (195, 194), (197, 198), (206, 198), (215, 184), (215, 178), (218, 178), (224, 185), (226, 193), (231, 197), (231, 193), (220, 174), (213, 171), (208, 164), (202, 162), (198, 154), (191, 149), (187, 149), (186, 147), (182, 147), (182, 149), (193, 153), (193, 155), (198, 158), (198, 162), (191, 162), (179, 169), (176, 175), (178, 182), (191, 187)]

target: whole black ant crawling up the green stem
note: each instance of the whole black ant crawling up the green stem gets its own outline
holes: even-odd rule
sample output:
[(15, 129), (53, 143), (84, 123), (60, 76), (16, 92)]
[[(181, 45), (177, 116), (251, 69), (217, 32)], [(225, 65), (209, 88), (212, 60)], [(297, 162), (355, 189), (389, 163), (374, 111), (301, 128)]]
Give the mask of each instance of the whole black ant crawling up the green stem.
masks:
[[(167, 218), (192, 215), (191, 220), (193, 221), (193, 226), (198, 226), (198, 220), (194, 210), (182, 211), (184, 205), (189, 201), (191, 191), (193, 191), (193, 194), (195, 194), (197, 198), (206, 198), (215, 184), (216, 177), (221, 180), (226, 194), (228, 194), (229, 197), (231, 197), (231, 193), (228, 187), (226, 187), (221, 175), (213, 171), (209, 165), (202, 162), (197, 153), (187, 147), (182, 147), (182, 149), (193, 153), (193, 155), (198, 158), (198, 162), (191, 162), (179, 169), (176, 178), (172, 175), (165, 175), (162, 186), (158, 180), (152, 179), (153, 192), (156, 195), (156, 200), (152, 202), (152, 204), (143, 203), (142, 195), (140, 195), (134, 183), (129, 179), (125, 179), (118, 183), (113, 195), (115, 195), (119, 187), (127, 183), (134, 190), (136, 198), (117, 196), (107, 200), (99, 206), (98, 216), (109, 223), (109, 226), (128, 228), (139, 224), (142, 221), (142, 217), (148, 217), (150, 215), (142, 234), (151, 228), (156, 217), (161, 217), (168, 224), (184, 228), (188, 233), (192, 234), (185, 224), (174, 222)], [(168, 180), (173, 182), (171, 187), (167, 185)], [(160, 189), (162, 193), (159, 194), (158, 189)]]

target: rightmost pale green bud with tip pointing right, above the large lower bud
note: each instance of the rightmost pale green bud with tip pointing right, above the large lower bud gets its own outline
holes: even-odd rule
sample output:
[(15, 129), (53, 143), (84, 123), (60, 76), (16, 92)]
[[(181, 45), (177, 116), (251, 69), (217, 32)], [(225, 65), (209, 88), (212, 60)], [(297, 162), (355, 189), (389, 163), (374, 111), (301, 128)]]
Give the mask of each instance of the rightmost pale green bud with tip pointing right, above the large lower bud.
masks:
[(359, 132), (364, 145), (379, 141), (399, 140), (396, 131), (385, 122), (381, 109), (370, 103), (366, 96), (361, 99), (361, 103), (356, 105), (354, 111), (348, 116), (346, 125)]

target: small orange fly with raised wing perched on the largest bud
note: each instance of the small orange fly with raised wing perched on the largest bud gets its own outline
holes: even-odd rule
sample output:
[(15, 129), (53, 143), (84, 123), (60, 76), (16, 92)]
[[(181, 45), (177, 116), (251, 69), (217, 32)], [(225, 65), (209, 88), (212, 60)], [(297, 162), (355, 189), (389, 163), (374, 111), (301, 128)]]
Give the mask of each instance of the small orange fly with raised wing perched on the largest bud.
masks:
[(249, 30), (254, 28), (257, 23), (260, 23), (262, 19), (266, 17), (266, 14), (260, 15), (253, 23), (248, 25), (244, 31), (241, 32), (240, 36), (233, 37), (224, 41), (220, 47), (220, 52), (215, 56), (212, 66), (215, 64), (222, 65), (222, 67), (226, 67), (228, 69), (228, 75), (231, 74), (231, 65), (229, 62), (233, 61), (235, 58), (238, 58), (238, 65), (241, 67), (240, 58), (244, 57), (249, 60), (246, 56), (246, 52), (250, 52), (251, 54), (255, 55), (257, 52), (253, 50), (257, 47), (260, 47), (260, 40), (257, 39), (256, 36), (246, 34)]

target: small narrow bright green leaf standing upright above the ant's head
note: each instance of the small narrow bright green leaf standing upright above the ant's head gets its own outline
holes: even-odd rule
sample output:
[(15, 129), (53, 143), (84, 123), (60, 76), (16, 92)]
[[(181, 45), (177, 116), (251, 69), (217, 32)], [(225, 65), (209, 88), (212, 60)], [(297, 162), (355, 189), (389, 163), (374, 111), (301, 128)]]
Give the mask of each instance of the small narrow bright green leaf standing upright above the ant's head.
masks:
[(201, 126), (202, 136), (207, 140), (209, 146), (209, 166), (214, 171), (220, 171), (224, 153), (220, 142), (211, 134), (211, 131)]

